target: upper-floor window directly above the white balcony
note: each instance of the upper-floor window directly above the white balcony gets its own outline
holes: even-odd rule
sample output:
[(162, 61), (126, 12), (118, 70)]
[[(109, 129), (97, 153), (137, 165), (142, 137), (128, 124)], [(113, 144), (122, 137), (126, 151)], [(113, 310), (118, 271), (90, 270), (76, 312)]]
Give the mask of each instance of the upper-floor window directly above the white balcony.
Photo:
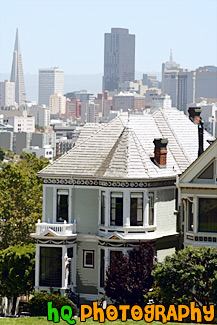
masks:
[(69, 191), (57, 190), (57, 222), (68, 222)]

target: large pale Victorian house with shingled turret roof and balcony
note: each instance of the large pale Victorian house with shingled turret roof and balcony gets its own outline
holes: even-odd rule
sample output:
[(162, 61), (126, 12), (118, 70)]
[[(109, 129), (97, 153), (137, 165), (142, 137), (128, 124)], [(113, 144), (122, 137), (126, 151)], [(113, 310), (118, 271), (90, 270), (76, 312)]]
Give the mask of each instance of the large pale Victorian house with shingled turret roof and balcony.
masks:
[[(206, 140), (212, 139), (204, 132)], [(197, 158), (198, 129), (175, 108), (87, 124), (43, 178), (35, 288), (95, 300), (114, 255), (152, 241), (158, 260), (179, 245), (176, 175)]]

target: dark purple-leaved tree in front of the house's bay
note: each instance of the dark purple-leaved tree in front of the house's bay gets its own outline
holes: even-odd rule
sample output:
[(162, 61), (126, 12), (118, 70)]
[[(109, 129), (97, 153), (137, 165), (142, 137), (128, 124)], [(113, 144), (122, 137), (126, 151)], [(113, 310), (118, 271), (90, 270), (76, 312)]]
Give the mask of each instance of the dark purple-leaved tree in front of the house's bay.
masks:
[(144, 294), (151, 288), (153, 279), (153, 246), (140, 244), (127, 255), (114, 258), (107, 271), (105, 293), (116, 304), (144, 305)]

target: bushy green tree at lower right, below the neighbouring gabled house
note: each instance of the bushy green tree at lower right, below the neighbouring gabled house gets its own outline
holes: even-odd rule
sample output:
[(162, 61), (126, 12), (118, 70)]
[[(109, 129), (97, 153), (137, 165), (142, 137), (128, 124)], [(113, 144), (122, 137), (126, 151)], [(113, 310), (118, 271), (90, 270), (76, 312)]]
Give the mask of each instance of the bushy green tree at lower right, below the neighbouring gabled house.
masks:
[(187, 247), (167, 256), (152, 272), (155, 284), (146, 299), (167, 306), (217, 303), (216, 265), (217, 250), (211, 247)]

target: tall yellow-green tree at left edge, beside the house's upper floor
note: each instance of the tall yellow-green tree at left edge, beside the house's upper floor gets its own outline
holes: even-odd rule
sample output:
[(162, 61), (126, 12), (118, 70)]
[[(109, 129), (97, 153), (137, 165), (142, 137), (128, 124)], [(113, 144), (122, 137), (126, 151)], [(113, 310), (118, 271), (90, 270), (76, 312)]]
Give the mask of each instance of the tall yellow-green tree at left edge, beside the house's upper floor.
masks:
[(0, 172), (0, 249), (30, 243), (42, 216), (42, 180), (36, 173), (48, 164), (32, 154)]

